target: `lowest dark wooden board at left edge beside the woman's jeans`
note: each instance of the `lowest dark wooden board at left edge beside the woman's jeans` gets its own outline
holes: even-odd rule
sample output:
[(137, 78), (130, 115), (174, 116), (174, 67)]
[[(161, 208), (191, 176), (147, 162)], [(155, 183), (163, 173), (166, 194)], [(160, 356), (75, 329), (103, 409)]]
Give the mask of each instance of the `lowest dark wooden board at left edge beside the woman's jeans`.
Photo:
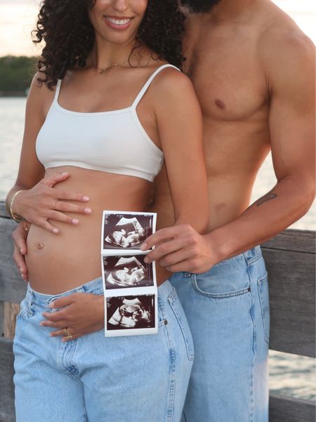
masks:
[(0, 421), (15, 422), (12, 341), (0, 338)]

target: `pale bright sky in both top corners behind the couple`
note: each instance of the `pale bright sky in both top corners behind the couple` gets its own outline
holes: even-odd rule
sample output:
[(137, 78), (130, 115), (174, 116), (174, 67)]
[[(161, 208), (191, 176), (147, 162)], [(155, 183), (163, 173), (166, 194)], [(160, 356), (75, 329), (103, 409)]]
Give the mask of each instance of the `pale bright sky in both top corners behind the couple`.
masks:
[[(273, 0), (293, 18), (316, 44), (314, 0)], [(39, 0), (0, 0), (0, 56), (39, 55), (30, 32), (34, 29)]]

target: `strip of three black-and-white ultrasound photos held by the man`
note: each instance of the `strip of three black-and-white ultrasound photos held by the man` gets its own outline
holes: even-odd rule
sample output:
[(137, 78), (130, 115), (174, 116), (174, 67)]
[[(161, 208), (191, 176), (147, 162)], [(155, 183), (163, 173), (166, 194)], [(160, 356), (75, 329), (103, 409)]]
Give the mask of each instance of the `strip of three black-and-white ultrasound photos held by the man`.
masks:
[(157, 334), (155, 263), (144, 261), (156, 213), (103, 211), (101, 261), (105, 336)]

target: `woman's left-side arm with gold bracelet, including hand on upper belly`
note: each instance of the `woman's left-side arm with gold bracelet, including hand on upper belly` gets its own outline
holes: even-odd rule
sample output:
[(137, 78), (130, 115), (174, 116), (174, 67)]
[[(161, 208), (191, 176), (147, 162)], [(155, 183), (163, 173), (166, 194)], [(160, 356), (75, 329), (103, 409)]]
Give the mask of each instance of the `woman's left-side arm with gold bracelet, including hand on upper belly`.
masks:
[[(46, 86), (39, 85), (39, 74), (34, 76), (25, 111), (25, 131), (23, 136), (22, 150), (18, 178), (6, 197), (6, 206), (9, 214), (23, 217), (29, 223), (39, 225), (53, 233), (58, 233), (49, 221), (60, 220), (65, 223), (77, 224), (77, 219), (70, 218), (60, 211), (86, 213), (84, 206), (77, 206), (62, 199), (72, 199), (79, 202), (88, 201), (88, 197), (74, 192), (58, 192), (53, 189), (56, 183), (60, 183), (70, 175), (68, 173), (55, 173), (51, 178), (44, 178), (44, 166), (37, 159), (35, 142), (41, 126), (44, 124), (46, 114), (53, 101), (53, 91)], [(18, 191), (18, 194), (16, 194)], [(56, 205), (58, 201), (58, 210)], [(55, 205), (55, 206), (54, 206)]]

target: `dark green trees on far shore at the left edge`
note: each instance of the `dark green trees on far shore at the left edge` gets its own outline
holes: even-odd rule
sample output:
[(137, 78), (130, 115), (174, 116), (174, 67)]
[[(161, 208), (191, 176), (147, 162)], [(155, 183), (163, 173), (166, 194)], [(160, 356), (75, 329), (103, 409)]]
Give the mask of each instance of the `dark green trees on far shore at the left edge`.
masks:
[(25, 55), (0, 57), (0, 95), (26, 93), (36, 72), (37, 59)]

